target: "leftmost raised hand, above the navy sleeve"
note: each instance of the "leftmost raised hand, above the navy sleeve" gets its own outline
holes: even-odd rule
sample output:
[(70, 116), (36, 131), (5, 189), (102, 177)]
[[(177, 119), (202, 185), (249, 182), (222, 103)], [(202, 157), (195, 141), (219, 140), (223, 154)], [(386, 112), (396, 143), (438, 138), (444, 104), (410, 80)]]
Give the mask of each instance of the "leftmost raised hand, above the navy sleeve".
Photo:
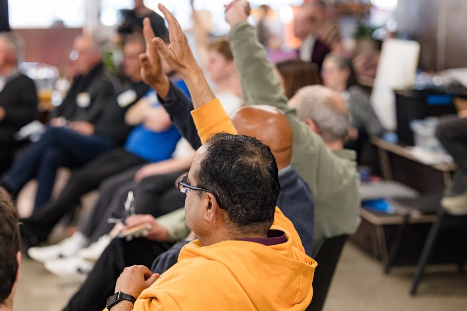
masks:
[(159, 51), (152, 43), (152, 40), (154, 39), (154, 31), (152, 30), (149, 17), (144, 18), (143, 25), (144, 41), (146, 41), (146, 52), (140, 55), (141, 76), (143, 77), (144, 83), (154, 88), (161, 96), (161, 90), (158, 88), (161, 88), (161, 86), (167, 86), (168, 92), (169, 80), (162, 71), (161, 56), (159, 55)]

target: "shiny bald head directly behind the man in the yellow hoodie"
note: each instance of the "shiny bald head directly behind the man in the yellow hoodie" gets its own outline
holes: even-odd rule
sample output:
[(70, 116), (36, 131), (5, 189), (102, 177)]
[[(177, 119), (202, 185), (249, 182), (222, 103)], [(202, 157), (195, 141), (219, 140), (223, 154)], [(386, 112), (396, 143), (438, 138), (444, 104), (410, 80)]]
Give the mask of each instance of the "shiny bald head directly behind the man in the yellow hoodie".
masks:
[(231, 120), (238, 134), (255, 137), (269, 146), (279, 170), (290, 164), (293, 134), (282, 111), (266, 105), (245, 106), (235, 111)]

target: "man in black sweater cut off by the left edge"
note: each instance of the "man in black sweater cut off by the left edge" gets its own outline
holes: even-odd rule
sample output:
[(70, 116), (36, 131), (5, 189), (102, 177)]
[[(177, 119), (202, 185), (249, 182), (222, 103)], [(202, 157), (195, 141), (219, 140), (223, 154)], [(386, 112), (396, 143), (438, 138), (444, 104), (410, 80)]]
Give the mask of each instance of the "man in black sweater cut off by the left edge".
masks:
[(0, 173), (11, 165), (20, 145), (15, 133), (37, 115), (36, 86), (18, 72), (22, 46), (17, 35), (0, 33)]

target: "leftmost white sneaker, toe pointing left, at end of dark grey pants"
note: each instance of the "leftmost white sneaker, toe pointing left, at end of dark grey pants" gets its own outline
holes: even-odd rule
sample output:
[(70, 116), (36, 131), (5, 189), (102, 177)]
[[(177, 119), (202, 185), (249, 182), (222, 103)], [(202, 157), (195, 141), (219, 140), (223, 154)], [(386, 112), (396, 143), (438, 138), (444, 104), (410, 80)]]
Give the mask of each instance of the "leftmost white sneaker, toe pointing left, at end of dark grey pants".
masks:
[(80, 232), (76, 232), (70, 238), (63, 240), (62, 242), (44, 246), (44, 247), (31, 247), (28, 249), (28, 255), (32, 259), (40, 262), (47, 260), (66, 258), (75, 256), (78, 251), (88, 245), (88, 240)]

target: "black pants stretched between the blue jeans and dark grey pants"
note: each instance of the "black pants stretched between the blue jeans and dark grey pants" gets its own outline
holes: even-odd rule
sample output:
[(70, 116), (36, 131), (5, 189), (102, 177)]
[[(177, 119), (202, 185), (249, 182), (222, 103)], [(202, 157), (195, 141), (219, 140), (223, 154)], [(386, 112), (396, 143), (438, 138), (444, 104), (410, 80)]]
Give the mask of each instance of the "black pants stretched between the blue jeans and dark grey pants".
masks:
[(31, 217), (22, 219), (22, 233), (35, 236), (37, 242), (46, 240), (54, 225), (76, 207), (83, 194), (97, 189), (104, 179), (145, 162), (143, 158), (124, 149), (115, 149), (100, 155), (72, 173), (56, 200), (46, 203)]

